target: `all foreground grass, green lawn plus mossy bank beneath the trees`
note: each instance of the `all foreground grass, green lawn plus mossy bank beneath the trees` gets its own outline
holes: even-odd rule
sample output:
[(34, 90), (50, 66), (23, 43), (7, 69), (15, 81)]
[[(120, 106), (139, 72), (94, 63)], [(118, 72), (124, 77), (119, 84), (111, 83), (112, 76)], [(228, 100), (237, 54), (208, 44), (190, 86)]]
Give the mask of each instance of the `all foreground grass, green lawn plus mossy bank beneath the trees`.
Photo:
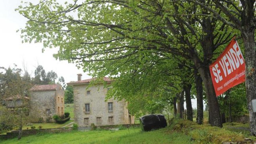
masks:
[(141, 131), (139, 128), (129, 128), (119, 131), (71, 131), (55, 134), (37, 134), (34, 136), (22, 137), (20, 141), (17, 138), (0, 141), (1, 144), (218, 144), (223, 142), (242, 142), (244, 138), (251, 138), (254, 141), (256, 137), (249, 136), (241, 131), (233, 131), (228, 127), (247, 128), (248, 124), (227, 123), (224, 128), (212, 127), (207, 125), (198, 125), (188, 120), (171, 120), (171, 126), (150, 132)]

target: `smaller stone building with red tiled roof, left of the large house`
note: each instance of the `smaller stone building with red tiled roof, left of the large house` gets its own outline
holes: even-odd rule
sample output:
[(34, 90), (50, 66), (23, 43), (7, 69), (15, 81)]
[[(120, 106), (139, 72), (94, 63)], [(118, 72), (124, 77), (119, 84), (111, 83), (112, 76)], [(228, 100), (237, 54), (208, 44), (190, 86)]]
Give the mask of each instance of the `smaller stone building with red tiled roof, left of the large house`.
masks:
[[(31, 118), (52, 118), (54, 114), (64, 114), (64, 91), (60, 84), (35, 85), (31, 89), (30, 112)], [(53, 122), (54, 120), (51, 119)]]

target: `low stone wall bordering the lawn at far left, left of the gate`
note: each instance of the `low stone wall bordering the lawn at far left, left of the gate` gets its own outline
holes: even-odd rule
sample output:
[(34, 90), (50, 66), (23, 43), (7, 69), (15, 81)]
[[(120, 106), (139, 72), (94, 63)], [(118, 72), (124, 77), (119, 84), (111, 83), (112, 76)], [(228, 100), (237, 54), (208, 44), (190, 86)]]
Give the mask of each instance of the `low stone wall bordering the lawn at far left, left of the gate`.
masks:
[[(22, 130), (22, 136), (30, 136), (38, 133), (57, 133), (71, 131), (72, 127), (69, 128), (53, 128), (53, 129), (24, 129)], [(7, 132), (6, 134), (0, 135), (0, 139), (15, 138), (19, 135), (19, 131)]]

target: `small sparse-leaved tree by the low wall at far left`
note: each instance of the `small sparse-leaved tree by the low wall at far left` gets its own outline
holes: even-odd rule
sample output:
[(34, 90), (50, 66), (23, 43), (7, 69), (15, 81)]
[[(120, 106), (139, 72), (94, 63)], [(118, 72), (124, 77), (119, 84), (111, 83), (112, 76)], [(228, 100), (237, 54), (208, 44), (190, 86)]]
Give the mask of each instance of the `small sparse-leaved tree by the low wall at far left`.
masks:
[[(5, 86), (4, 93), (1, 95), (1, 97), (4, 101), (7, 98), (11, 98), (14, 103), (14, 107), (11, 109), (4, 109), (3, 114), (6, 114), (7, 118), (1, 119), (0, 123), (4, 124), (2, 130), (18, 127), (18, 139), (21, 138), (22, 126), (29, 121), (28, 108), (24, 105), (24, 101), (25, 97), (29, 97), (29, 89), (32, 86), (30, 83), (31, 81), (27, 79), (27, 75), (25, 77), (21, 76), (21, 71), (21, 69), (11, 69), (9, 67), (8, 69), (5, 69), (5, 73), (3, 74), (3, 77), (1, 77), (1, 83), (4, 83)], [(22, 106), (19, 104), (17, 105), (17, 100), (22, 101)], [(12, 125), (8, 124), (6, 120), (11, 120)]]

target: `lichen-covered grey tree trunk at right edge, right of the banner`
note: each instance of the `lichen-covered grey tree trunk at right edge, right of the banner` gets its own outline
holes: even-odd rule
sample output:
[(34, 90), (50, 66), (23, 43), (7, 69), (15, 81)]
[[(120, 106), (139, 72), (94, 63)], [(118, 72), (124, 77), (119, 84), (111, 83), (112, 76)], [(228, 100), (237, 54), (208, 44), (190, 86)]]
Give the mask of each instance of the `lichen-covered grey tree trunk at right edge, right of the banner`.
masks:
[(256, 113), (253, 113), (252, 99), (256, 98), (256, 44), (255, 27), (242, 31), (246, 61), (246, 97), (249, 111), (250, 131), (256, 136)]

